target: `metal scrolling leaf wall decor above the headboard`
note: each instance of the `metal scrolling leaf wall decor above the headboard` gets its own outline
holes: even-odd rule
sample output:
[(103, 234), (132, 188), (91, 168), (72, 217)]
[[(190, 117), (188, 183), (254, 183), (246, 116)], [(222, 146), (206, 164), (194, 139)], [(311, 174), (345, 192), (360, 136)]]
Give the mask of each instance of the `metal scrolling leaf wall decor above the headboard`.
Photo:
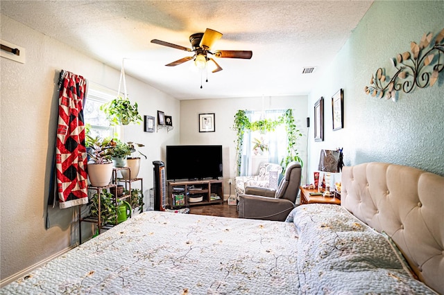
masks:
[(406, 51), (391, 59), (398, 71), (389, 77), (385, 69), (377, 69), (372, 75), (370, 86), (365, 87), (367, 94), (373, 97), (397, 100), (396, 91), (409, 93), (418, 88), (433, 86), (438, 74), (444, 69), (444, 29), (436, 35), (432, 43), (432, 33), (424, 34), (420, 44), (411, 42), (411, 53)]

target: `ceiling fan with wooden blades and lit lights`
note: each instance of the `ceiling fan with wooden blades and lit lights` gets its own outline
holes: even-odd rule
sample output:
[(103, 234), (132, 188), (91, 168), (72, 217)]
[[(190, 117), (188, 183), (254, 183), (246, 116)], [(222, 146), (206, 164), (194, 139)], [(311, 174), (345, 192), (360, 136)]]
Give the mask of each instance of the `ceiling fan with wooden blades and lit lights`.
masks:
[(216, 65), (216, 69), (212, 71), (212, 73), (216, 73), (222, 71), (221, 66), (217, 64), (216, 61), (213, 60), (210, 55), (215, 57), (223, 57), (223, 58), (243, 58), (249, 60), (253, 56), (253, 51), (228, 51), (228, 50), (218, 50), (218, 51), (210, 51), (214, 42), (221, 39), (222, 33), (219, 33), (216, 30), (212, 30), (211, 28), (207, 28), (205, 33), (196, 33), (189, 36), (189, 42), (191, 43), (191, 48), (187, 48), (184, 46), (172, 44), (169, 42), (164, 42), (158, 39), (152, 39), (151, 43), (180, 49), (182, 51), (194, 52), (193, 56), (183, 57), (180, 60), (176, 60), (175, 62), (171, 62), (169, 64), (165, 64), (165, 66), (177, 66), (178, 64), (182, 64), (184, 62), (188, 62), (189, 60), (194, 60), (196, 66), (200, 69), (204, 69), (207, 65), (207, 62), (211, 60)]

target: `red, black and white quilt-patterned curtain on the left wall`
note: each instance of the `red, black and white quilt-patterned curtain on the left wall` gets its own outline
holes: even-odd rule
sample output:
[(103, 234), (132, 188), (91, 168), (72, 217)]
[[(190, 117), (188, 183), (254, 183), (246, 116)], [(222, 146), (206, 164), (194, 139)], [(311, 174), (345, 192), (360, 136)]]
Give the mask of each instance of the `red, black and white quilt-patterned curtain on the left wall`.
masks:
[(83, 100), (87, 81), (69, 71), (60, 73), (56, 138), (56, 177), (60, 208), (87, 204), (87, 153)]

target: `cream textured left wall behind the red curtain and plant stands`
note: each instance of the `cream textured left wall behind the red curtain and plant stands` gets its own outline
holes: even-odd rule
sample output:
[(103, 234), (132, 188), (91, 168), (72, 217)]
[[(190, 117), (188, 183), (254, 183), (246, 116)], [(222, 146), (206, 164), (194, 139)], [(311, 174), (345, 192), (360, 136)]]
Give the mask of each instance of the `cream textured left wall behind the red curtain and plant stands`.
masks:
[[(118, 88), (120, 71), (4, 15), (1, 39), (26, 49), (25, 64), (0, 58), (0, 273), (4, 280), (78, 242), (76, 208), (49, 208), (50, 228), (45, 229), (60, 70), (111, 89)], [(128, 76), (126, 80), (130, 100), (138, 102), (142, 115), (155, 116), (160, 109), (179, 118), (178, 100)], [(161, 158), (166, 143), (177, 144), (179, 134), (179, 126), (168, 134), (143, 132), (143, 125), (125, 127), (125, 140), (146, 145), (143, 152), (148, 160), (139, 174), (145, 192), (153, 186), (151, 162)]]

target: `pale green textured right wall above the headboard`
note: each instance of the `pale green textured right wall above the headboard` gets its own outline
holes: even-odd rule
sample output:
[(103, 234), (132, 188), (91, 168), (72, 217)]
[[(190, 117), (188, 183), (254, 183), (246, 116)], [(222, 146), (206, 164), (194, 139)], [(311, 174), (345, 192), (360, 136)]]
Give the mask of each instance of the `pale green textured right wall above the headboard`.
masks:
[[(309, 114), (325, 99), (325, 141), (311, 130), (309, 179), (321, 149), (344, 148), (345, 165), (382, 161), (444, 175), (444, 71), (433, 87), (400, 92), (398, 102), (366, 95), (379, 67), (393, 75), (391, 57), (410, 51), (424, 33), (444, 28), (444, 1), (375, 1), (309, 95)], [(441, 63), (443, 60), (441, 59)], [(332, 131), (331, 97), (344, 89), (344, 128)]]

